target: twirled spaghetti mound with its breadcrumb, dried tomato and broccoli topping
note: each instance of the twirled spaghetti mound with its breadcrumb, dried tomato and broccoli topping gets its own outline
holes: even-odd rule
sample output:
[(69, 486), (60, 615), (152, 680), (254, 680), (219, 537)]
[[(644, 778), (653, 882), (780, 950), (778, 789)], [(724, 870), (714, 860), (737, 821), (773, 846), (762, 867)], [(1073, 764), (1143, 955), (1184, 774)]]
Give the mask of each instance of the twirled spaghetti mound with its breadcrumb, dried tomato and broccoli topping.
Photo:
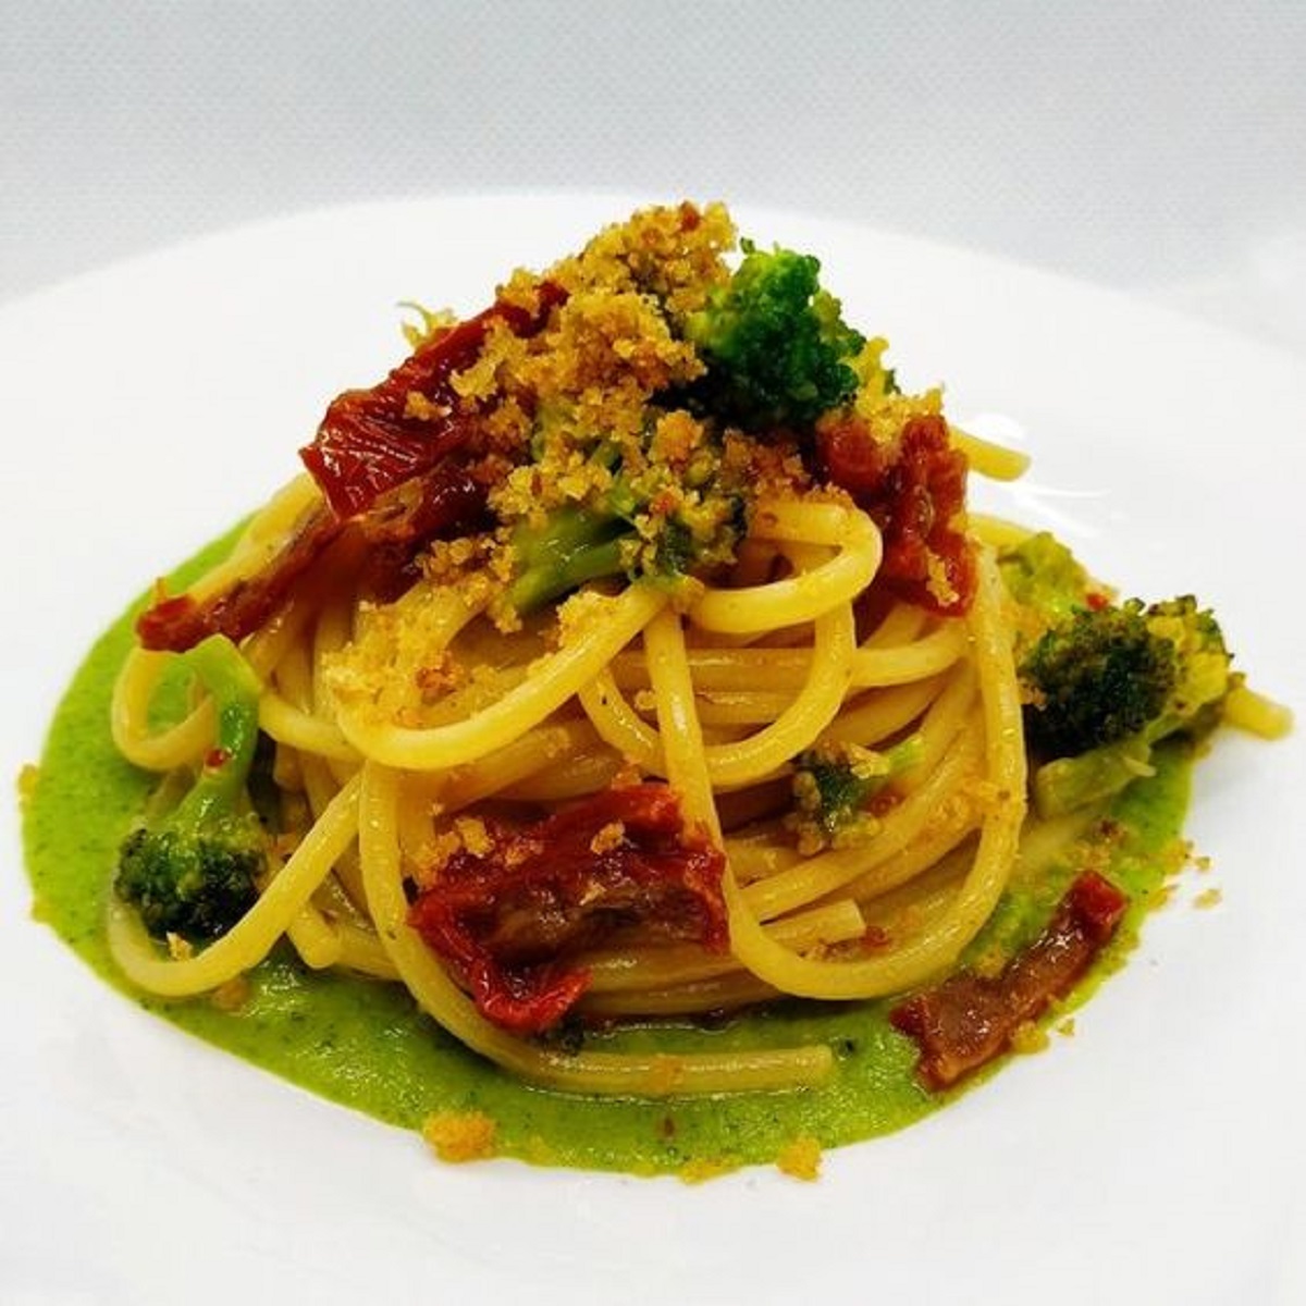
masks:
[(904, 393), (819, 270), (684, 204), (477, 316), (418, 310), (230, 556), (138, 620), (114, 731), (165, 780), (111, 895), (132, 980), (219, 989), (285, 936), (530, 1083), (662, 1096), (819, 1083), (835, 1053), (585, 1028), (956, 968), (1028, 793), (1012, 537), (966, 478), (1023, 460)]

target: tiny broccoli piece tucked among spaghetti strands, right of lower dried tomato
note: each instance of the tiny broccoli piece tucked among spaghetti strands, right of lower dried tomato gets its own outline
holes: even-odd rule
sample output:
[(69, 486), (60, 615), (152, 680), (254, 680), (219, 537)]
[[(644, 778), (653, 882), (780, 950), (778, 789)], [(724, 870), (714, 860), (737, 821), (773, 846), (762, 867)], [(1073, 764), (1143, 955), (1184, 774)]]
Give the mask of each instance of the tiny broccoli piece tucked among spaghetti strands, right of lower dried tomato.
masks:
[(875, 833), (871, 799), (922, 756), (919, 735), (876, 752), (859, 744), (818, 744), (801, 754), (794, 771), (794, 810), (789, 825), (799, 848), (846, 848)]

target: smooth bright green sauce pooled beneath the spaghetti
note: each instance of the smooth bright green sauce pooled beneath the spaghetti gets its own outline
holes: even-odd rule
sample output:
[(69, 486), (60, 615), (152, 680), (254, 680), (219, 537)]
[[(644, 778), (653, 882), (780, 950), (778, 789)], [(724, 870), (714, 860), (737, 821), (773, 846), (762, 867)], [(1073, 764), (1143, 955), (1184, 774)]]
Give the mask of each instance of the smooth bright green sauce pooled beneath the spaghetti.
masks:
[[(218, 541), (183, 567), (197, 573), (229, 546)], [(346, 974), (315, 973), (287, 947), (249, 978), (235, 1011), (200, 998), (142, 996), (116, 972), (102, 919), (116, 848), (153, 777), (123, 761), (108, 734), (114, 678), (132, 643), (132, 613), (95, 644), (59, 707), (39, 777), (25, 804), (25, 842), (35, 916), (107, 982), (199, 1037), (345, 1106), (417, 1128), (435, 1111), (479, 1111), (496, 1123), (499, 1155), (552, 1165), (635, 1173), (712, 1171), (774, 1161), (797, 1139), (833, 1147), (887, 1134), (956, 1096), (930, 1094), (914, 1079), (916, 1047), (889, 1027), (889, 1002), (786, 1003), (765, 1012), (691, 1024), (590, 1034), (589, 1046), (724, 1049), (735, 1043), (825, 1042), (836, 1072), (820, 1089), (710, 1100), (582, 1098), (525, 1087), (466, 1051), (422, 1016), (407, 993)], [(1136, 784), (1113, 816), (1110, 876), (1131, 906), (1115, 942), (1072, 1002), (1135, 938), (1147, 904), (1174, 866), (1188, 793), (1188, 756), (1165, 754), (1155, 778)], [(970, 953), (1033, 938), (1072, 878), (1067, 867), (1034, 892), (1017, 882)], [(986, 1077), (985, 1075), (978, 1076)]]

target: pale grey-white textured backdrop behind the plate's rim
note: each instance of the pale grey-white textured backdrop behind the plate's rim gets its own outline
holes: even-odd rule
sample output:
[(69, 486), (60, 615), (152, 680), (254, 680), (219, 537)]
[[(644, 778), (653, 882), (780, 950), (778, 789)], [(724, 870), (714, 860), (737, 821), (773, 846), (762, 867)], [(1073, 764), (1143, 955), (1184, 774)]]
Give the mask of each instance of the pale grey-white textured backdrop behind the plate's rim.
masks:
[(1306, 351), (1306, 4), (0, 4), (0, 300), (197, 232), (498, 188), (724, 197)]

